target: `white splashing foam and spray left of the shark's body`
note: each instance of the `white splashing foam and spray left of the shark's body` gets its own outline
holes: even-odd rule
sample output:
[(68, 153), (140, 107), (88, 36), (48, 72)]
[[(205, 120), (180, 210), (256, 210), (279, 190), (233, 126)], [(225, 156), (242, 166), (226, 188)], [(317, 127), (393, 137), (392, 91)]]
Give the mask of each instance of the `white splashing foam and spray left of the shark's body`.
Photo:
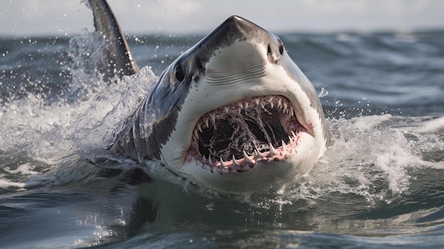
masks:
[[(84, 47), (82, 39), (92, 45)], [(0, 106), (2, 186), (63, 184), (88, 176), (89, 170), (79, 167), (89, 165), (72, 162), (71, 155), (79, 155), (80, 160), (100, 157), (116, 128), (148, 94), (156, 80), (148, 67), (117, 84), (97, 79), (94, 70), (85, 72), (95, 66), (94, 60), (84, 60), (84, 56), (94, 58), (92, 39), (94, 35), (87, 34), (70, 44), (67, 52), (73, 64), (66, 70), (73, 82), (65, 96), (48, 104), (46, 96), (28, 93)]]

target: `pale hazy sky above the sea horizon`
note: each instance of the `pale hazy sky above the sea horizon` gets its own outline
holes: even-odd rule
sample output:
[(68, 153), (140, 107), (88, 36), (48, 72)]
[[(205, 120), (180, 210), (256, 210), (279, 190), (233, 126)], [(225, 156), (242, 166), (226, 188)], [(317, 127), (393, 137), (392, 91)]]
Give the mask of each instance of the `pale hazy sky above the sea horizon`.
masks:
[[(1, 0), (0, 35), (94, 30), (85, 0)], [(238, 15), (273, 32), (418, 31), (444, 28), (443, 0), (109, 0), (126, 35), (205, 34)]]

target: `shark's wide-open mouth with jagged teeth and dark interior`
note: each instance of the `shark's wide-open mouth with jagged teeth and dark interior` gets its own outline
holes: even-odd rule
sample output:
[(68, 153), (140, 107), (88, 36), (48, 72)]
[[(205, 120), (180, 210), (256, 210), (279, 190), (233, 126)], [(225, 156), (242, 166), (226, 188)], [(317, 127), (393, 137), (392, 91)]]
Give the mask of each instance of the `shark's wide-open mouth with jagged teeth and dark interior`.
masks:
[(188, 155), (228, 172), (249, 170), (260, 160), (289, 157), (304, 127), (284, 96), (258, 96), (210, 111), (199, 118)]

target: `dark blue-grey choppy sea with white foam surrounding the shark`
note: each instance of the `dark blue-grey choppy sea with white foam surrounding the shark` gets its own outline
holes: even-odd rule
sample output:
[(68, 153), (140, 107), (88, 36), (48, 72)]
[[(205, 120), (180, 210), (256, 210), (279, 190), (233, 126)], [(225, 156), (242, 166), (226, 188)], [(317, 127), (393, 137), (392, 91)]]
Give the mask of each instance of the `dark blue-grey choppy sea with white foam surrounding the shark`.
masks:
[(143, 69), (113, 84), (93, 33), (0, 38), (0, 247), (444, 248), (444, 31), (278, 35), (335, 143), (297, 183), (243, 196), (106, 150), (203, 35), (129, 36)]

